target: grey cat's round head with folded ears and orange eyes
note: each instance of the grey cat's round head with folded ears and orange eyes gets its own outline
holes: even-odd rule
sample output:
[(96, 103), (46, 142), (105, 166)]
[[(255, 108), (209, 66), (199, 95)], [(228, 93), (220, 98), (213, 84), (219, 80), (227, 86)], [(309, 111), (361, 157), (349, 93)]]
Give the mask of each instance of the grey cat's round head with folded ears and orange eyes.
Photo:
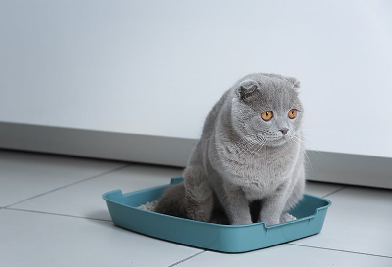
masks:
[[(299, 81), (276, 74), (251, 74), (234, 87), (232, 125), (242, 136), (279, 146), (300, 131), (303, 106)], [(259, 137), (257, 137), (259, 136)]]

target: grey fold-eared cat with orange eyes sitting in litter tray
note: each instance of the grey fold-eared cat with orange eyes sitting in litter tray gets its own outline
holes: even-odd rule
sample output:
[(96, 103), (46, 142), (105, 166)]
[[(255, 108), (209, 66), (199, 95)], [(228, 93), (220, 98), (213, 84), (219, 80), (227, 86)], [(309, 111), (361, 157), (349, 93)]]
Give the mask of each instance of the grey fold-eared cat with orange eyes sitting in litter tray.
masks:
[(295, 78), (256, 73), (227, 90), (205, 121), (184, 183), (168, 188), (154, 211), (233, 225), (296, 219), (288, 211), (305, 188), (298, 88)]

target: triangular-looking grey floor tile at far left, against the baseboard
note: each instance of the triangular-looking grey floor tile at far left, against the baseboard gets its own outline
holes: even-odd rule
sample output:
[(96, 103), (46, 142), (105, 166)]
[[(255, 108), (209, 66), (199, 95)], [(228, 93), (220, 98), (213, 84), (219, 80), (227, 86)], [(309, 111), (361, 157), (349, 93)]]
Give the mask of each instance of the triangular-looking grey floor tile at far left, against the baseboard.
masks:
[(127, 163), (0, 150), (0, 206), (31, 198)]

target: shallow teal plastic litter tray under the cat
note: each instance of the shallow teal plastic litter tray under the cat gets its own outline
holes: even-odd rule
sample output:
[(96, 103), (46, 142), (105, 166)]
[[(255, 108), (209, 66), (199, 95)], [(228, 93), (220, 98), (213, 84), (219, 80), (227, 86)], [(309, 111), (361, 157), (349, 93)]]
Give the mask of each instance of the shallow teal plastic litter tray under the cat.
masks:
[(266, 226), (264, 222), (246, 225), (205, 223), (138, 209), (147, 201), (159, 199), (164, 190), (182, 182), (172, 178), (168, 185), (123, 194), (121, 190), (103, 195), (114, 224), (148, 236), (223, 252), (246, 252), (278, 245), (321, 231), (331, 201), (305, 194), (291, 211), (297, 220)]

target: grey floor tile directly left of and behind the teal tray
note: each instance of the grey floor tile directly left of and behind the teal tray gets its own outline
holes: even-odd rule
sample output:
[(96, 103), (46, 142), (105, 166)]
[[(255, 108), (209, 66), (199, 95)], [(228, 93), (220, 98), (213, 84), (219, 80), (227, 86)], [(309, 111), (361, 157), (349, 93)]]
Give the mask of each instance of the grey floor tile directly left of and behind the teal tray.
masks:
[(128, 193), (164, 185), (170, 178), (180, 176), (182, 169), (134, 164), (73, 186), (28, 200), (12, 208), (68, 214), (110, 220), (102, 194), (121, 189)]

